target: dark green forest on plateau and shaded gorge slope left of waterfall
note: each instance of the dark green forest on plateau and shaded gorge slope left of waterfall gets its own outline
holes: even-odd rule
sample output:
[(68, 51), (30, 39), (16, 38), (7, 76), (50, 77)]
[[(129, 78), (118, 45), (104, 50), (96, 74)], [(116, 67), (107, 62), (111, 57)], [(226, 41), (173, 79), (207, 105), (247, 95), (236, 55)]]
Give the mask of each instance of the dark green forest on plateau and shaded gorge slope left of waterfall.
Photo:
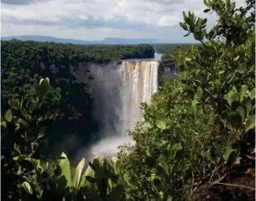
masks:
[[(71, 135), (79, 138), (71, 153), (78, 150), (79, 144), (86, 144), (98, 130), (92, 118), (93, 94), (90, 83), (77, 82), (71, 68), (78, 70), (81, 63), (108, 63), (125, 58), (153, 58), (152, 46), (79, 46), (47, 42), (2, 41), (2, 111), (8, 109), (10, 98), (22, 97), (24, 104), (34, 92), (34, 84), (42, 77), (49, 77), (53, 88), (49, 91), (41, 107), (48, 113), (59, 113), (53, 119), (53, 127), (46, 135), (52, 139), (53, 146)], [(89, 72), (87, 72), (89, 73)], [(27, 107), (28, 108), (28, 107)], [(84, 122), (87, 122), (84, 125)], [(96, 138), (97, 139), (97, 138)]]

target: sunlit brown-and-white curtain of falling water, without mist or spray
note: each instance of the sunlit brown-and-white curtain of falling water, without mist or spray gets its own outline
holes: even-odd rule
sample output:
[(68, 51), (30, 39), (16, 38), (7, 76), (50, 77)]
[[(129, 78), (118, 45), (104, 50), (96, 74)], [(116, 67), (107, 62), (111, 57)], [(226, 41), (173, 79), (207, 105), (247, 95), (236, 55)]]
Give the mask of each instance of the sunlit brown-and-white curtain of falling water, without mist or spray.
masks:
[(159, 63), (122, 62), (123, 70), (123, 117), (124, 128), (134, 129), (136, 122), (140, 121), (140, 102), (150, 103), (151, 96), (158, 89)]

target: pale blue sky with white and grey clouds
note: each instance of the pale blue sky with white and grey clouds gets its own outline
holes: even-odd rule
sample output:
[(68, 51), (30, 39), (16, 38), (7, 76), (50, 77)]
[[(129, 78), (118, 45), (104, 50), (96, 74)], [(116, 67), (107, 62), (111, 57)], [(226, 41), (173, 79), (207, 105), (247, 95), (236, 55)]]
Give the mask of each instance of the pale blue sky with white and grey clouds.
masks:
[[(245, 1), (236, 0), (238, 6)], [(204, 14), (203, 0), (2, 0), (1, 35), (47, 35), (77, 40), (152, 38), (195, 42), (179, 27), (183, 11)]]

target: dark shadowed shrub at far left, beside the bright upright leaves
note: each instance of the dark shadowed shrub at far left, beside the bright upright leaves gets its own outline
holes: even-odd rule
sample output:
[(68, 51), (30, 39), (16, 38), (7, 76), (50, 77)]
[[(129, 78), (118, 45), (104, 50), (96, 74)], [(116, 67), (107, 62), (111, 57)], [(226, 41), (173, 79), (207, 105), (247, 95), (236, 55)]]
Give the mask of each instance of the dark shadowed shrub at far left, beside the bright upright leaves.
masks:
[[(38, 89), (38, 90), (37, 90)], [(50, 125), (52, 116), (41, 115), (41, 106), (50, 89), (49, 79), (41, 79), (38, 88), (34, 88), (31, 105), (24, 107), (23, 99), (9, 100), (9, 109), (2, 118), (2, 158), (4, 200), (36, 200), (41, 197), (44, 188), (44, 175), (51, 175), (48, 162), (41, 161), (46, 141), (44, 132)], [(40, 95), (39, 95), (40, 94)], [(47, 166), (48, 173), (42, 166)]]

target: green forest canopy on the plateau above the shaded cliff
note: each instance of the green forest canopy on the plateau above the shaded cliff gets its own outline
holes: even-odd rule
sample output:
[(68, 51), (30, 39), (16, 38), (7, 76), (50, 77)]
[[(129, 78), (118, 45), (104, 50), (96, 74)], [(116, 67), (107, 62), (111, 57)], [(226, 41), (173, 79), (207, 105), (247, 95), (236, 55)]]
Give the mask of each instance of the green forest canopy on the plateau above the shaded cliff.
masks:
[[(103, 63), (126, 58), (153, 58), (154, 49), (147, 44), (138, 46), (82, 46), (48, 42), (1, 41), (2, 108), (13, 95), (23, 95), (42, 76), (71, 77), (70, 65), (79, 62)], [(54, 64), (55, 70), (50, 71)], [(53, 85), (55, 86), (55, 85)], [(59, 88), (57, 88), (59, 91)], [(58, 96), (58, 95), (57, 95)], [(56, 103), (53, 100), (53, 105)], [(52, 103), (51, 103), (52, 104)]]

